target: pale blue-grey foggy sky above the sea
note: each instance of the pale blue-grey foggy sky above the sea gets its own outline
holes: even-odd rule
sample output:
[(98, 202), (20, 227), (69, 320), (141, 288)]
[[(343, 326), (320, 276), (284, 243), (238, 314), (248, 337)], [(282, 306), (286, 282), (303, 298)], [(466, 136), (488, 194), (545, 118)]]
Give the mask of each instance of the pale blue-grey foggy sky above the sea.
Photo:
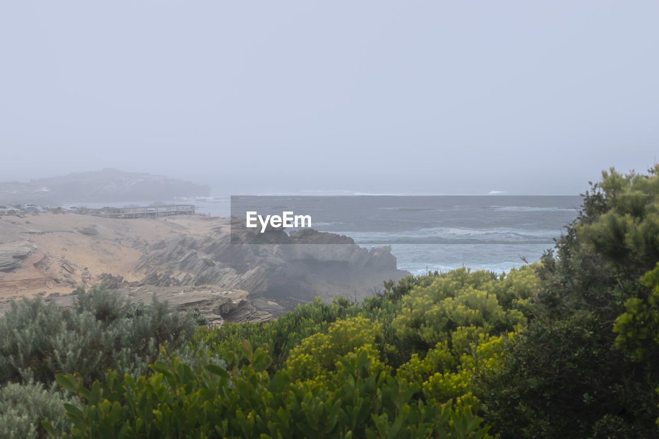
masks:
[(579, 194), (659, 160), (656, 1), (6, 1), (0, 181)]

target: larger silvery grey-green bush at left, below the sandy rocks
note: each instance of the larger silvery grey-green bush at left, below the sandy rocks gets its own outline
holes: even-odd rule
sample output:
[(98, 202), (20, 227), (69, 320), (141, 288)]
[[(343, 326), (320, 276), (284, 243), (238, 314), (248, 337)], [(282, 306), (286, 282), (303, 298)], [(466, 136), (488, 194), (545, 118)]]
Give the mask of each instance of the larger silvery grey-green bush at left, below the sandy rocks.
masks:
[(175, 349), (197, 326), (192, 313), (169, 312), (155, 300), (130, 305), (104, 287), (79, 289), (68, 309), (25, 299), (0, 318), (0, 384), (48, 384), (58, 372), (93, 382), (108, 368), (137, 376), (156, 360), (160, 344)]

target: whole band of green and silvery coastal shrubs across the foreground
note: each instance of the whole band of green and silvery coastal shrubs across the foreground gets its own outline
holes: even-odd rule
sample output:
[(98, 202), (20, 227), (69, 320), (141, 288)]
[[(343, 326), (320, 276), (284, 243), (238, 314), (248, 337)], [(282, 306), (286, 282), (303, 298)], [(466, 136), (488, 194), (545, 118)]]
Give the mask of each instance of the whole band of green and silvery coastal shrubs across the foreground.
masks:
[(659, 437), (659, 165), (540, 262), (210, 328), (105, 287), (0, 318), (1, 437)]

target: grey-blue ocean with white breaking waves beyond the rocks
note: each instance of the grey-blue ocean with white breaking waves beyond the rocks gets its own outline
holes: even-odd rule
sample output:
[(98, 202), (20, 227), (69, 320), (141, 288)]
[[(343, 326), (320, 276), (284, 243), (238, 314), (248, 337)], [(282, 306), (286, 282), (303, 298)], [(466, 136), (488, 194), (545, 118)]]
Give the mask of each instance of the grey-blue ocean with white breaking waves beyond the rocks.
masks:
[(509, 272), (540, 260), (577, 218), (581, 196), (213, 195), (186, 198), (197, 212), (244, 218), (244, 211), (309, 214), (312, 228), (362, 247), (391, 246), (398, 268)]

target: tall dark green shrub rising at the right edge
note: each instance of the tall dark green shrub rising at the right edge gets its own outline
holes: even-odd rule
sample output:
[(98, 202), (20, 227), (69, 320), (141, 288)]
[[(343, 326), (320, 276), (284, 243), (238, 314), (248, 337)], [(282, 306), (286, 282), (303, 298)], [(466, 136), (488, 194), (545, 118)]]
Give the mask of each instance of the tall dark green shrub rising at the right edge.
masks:
[(602, 173), (542, 256), (536, 320), (479, 395), (503, 435), (659, 437), (658, 171)]

